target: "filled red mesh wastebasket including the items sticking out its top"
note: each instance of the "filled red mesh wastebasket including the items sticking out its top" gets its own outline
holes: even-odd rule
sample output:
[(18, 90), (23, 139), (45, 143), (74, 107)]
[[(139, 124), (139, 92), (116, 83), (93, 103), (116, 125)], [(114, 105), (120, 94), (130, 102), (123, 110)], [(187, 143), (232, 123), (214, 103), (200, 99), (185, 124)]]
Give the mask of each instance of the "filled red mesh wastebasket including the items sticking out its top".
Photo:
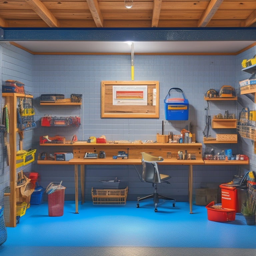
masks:
[(48, 194), (48, 215), (59, 217), (63, 215), (65, 187), (60, 183), (51, 182), (45, 192)]

